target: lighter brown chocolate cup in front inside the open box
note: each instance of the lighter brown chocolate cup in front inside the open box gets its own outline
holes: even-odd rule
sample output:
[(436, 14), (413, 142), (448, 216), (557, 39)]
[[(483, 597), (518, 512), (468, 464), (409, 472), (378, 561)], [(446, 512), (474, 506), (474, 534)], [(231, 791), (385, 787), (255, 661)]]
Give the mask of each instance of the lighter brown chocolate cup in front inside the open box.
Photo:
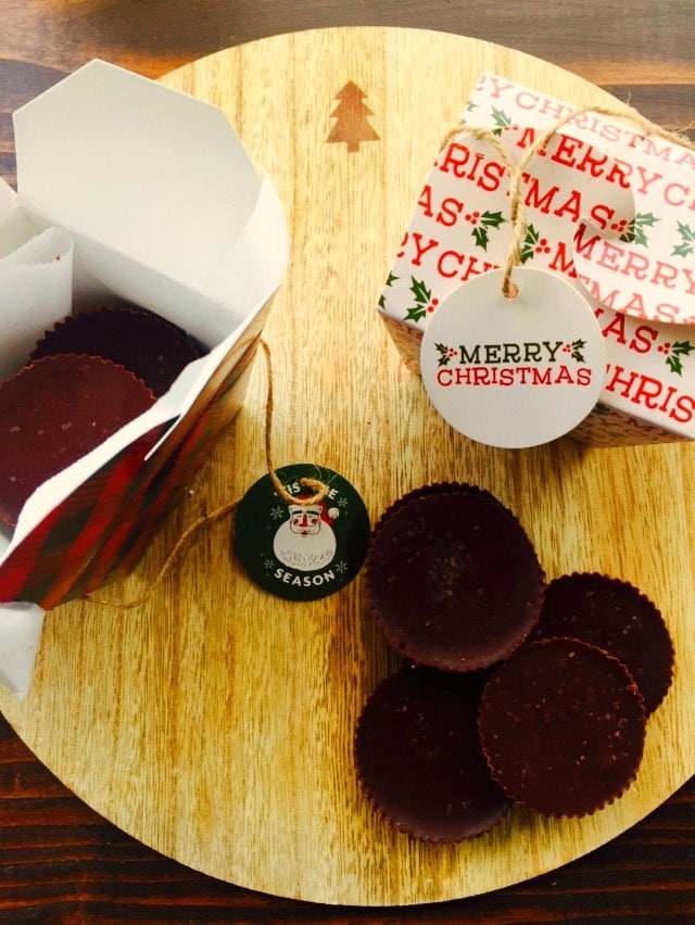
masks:
[(0, 384), (0, 520), (16, 525), (29, 495), (154, 403), (110, 360), (35, 360)]

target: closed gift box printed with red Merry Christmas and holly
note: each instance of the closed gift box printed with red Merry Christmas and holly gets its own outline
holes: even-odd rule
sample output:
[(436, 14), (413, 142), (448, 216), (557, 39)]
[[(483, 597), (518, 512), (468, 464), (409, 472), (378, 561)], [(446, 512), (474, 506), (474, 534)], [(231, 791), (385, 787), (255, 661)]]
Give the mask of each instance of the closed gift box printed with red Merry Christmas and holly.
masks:
[[(463, 122), (492, 130), (516, 164), (573, 111), (484, 73)], [(695, 153), (636, 119), (582, 112), (529, 162), (520, 192), (520, 265), (570, 281), (605, 339), (604, 389), (572, 435), (597, 445), (692, 440)], [(438, 306), (504, 266), (511, 233), (508, 165), (462, 127), (435, 157), (379, 300), (412, 369)]]

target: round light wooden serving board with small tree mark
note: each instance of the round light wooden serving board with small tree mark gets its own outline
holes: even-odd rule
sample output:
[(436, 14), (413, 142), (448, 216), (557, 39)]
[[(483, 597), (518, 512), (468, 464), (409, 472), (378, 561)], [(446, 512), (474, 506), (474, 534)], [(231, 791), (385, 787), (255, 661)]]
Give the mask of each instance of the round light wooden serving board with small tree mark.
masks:
[[(431, 481), (489, 489), (518, 515), (549, 578), (605, 571), (660, 606), (677, 649), (674, 684), (649, 722), (639, 778), (614, 806), (579, 821), (515, 809), (470, 844), (409, 840), (377, 821), (353, 768), (362, 705), (399, 666), (366, 612), (362, 575), (316, 603), (280, 600), (240, 572), (230, 520), (216, 522), (147, 605), (52, 611), (28, 699), (3, 692), (0, 708), (109, 820), (252, 889), (361, 905), (492, 890), (604, 844), (695, 772), (695, 446), (473, 444), (434, 413), (376, 311), (438, 145), (483, 69), (577, 104), (615, 103), (506, 48), (386, 28), (265, 39), (165, 83), (225, 109), (285, 203), (291, 263), (265, 329), (276, 465), (340, 472), (372, 521)], [(349, 81), (364, 93), (378, 140), (327, 140)], [(136, 573), (104, 594), (138, 594), (187, 523), (264, 473), (265, 395), (258, 354), (247, 405), (192, 494)]]

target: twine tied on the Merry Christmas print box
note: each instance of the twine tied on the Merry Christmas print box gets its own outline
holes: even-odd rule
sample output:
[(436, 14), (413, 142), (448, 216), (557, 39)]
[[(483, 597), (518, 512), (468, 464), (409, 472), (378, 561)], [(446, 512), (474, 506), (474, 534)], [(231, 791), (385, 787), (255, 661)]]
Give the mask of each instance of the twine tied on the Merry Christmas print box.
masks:
[[(579, 106), (578, 109), (572, 110), (567, 115), (557, 119), (557, 122), (553, 123), (548, 128), (545, 129), (540, 136), (538, 136), (533, 143), (530, 144), (519, 162), (515, 165), (500, 140), (500, 137), (495, 135), (489, 128), (482, 128), (480, 126), (470, 126), (466, 123), (462, 123), (462, 125), (452, 129), (444, 138), (441, 150), (443, 150), (453, 138), (457, 135), (472, 135), (473, 138), (481, 141), (489, 141), (494, 148), (497, 154), (500, 155), (502, 163), (507, 169), (507, 174), (509, 175), (509, 219), (511, 221), (511, 241), (509, 243), (509, 249), (507, 251), (506, 261), (504, 264), (504, 271), (502, 277), (502, 294), (505, 299), (514, 299), (518, 294), (518, 288), (511, 280), (511, 274), (514, 268), (517, 267), (521, 261), (521, 248), (523, 244), (523, 239), (527, 232), (526, 225), (526, 203), (523, 202), (523, 195), (521, 193), (521, 186), (523, 182), (523, 174), (526, 168), (531, 161), (532, 157), (538, 154), (539, 151), (543, 150), (547, 143), (551, 141), (553, 136), (560, 130), (567, 123), (577, 118), (584, 113), (595, 113), (596, 115), (604, 115), (609, 118), (620, 118), (627, 122), (632, 123), (633, 125), (640, 128), (645, 137), (647, 135), (656, 135), (659, 138), (664, 138), (666, 141), (670, 141), (673, 144), (679, 144), (681, 148), (687, 148), (691, 151), (695, 151), (695, 143), (693, 143), (685, 136), (670, 131), (669, 129), (661, 128), (661, 126), (656, 125), (655, 123), (649, 122), (644, 116), (640, 115), (639, 112), (632, 110), (630, 112), (624, 112), (617, 109), (610, 109), (609, 106), (594, 106), (594, 105), (585, 105)], [(691, 123), (688, 128), (693, 127), (693, 123)]]

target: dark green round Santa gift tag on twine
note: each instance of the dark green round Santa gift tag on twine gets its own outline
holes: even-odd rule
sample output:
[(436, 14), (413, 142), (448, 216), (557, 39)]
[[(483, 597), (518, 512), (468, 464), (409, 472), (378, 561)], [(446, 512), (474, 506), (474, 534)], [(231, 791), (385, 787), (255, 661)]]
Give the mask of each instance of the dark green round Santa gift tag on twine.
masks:
[[(317, 600), (344, 587), (367, 555), (369, 515), (361, 496), (342, 476), (314, 464), (276, 470), (291, 500), (269, 476), (253, 484), (237, 508), (233, 548), (249, 576), (264, 591), (289, 600)], [(328, 486), (315, 494), (301, 479)]]

